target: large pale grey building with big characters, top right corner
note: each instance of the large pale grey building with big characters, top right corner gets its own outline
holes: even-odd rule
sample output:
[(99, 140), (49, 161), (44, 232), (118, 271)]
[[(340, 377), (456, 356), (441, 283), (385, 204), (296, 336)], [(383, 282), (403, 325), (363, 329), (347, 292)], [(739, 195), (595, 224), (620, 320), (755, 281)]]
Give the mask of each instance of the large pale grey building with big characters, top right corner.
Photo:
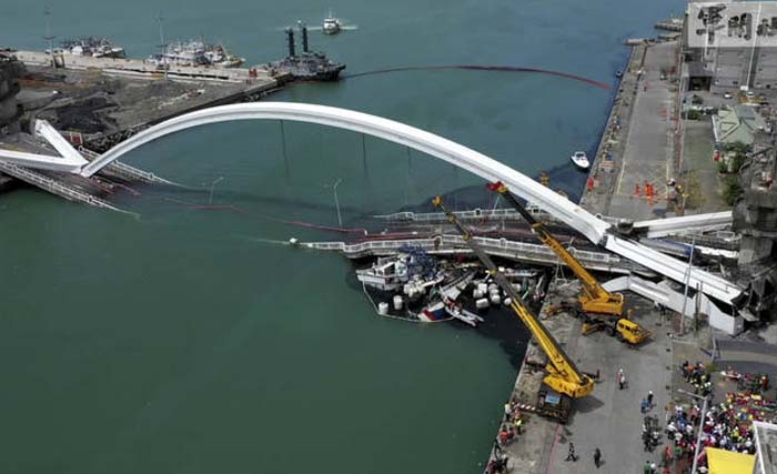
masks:
[(689, 2), (689, 89), (777, 89), (777, 1)]

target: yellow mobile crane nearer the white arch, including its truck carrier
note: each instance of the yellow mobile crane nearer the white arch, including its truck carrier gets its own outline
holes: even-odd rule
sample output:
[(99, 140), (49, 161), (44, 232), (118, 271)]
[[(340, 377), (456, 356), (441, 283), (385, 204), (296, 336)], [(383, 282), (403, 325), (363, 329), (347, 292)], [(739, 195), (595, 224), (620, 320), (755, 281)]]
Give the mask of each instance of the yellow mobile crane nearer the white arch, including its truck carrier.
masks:
[[(581, 302), (581, 307), (585, 313), (583, 333), (598, 331), (603, 327), (609, 327), (613, 335), (617, 335), (619, 340), (626, 341), (629, 344), (640, 344), (646, 341), (650, 333), (635, 323), (623, 316), (623, 294), (610, 293), (605, 290), (598, 281), (592, 275), (581, 262), (568, 250), (564, 249), (561, 242), (554, 238), (545, 228), (545, 224), (537, 222), (531, 212), (509, 192), (506, 185), (501, 181), (488, 184), (488, 189), (502, 194), (516, 211), (532, 226), (532, 232), (547, 246), (553, 250), (556, 255), (575, 273), (583, 285), (583, 294), (577, 300)], [(592, 317), (588, 313), (604, 314), (615, 316), (612, 319)]]

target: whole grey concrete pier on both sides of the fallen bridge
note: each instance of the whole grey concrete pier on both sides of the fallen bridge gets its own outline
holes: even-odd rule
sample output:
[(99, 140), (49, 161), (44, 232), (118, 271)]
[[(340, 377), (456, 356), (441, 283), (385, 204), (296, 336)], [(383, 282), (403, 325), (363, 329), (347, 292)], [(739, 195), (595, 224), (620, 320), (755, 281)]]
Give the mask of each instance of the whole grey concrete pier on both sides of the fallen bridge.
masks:
[[(677, 48), (677, 42), (653, 41), (633, 47), (581, 200), (589, 212), (629, 220), (674, 214), (667, 209), (665, 183), (676, 168), (677, 85), (666, 71), (676, 64)], [(655, 186), (653, 200), (645, 194), (645, 181)], [(491, 454), (491, 458), (497, 452), (507, 455), (511, 473), (639, 472), (645, 461), (660, 462), (659, 450), (642, 450), (639, 402), (653, 391), (650, 414), (663, 421), (663, 407), (670, 401), (666, 389), (674, 339), (668, 334), (677, 331), (679, 317), (660, 315), (653, 302), (629, 292), (626, 307), (632, 319), (654, 333), (649, 342), (632, 349), (605, 332), (583, 336), (581, 322), (571, 314), (548, 315), (549, 305), (574, 304), (578, 293), (577, 281), (555, 281), (539, 317), (581, 370), (599, 373), (596, 387), (592, 395), (573, 402), (566, 425), (533, 414), (531, 405), (537, 403), (544, 375), (537, 366), (544, 366), (547, 357), (529, 345), (508, 399), (512, 406), (524, 405), (517, 409), (523, 434), (501, 450), (495, 444)], [(619, 369), (628, 384), (623, 391), (616, 382)], [(576, 462), (565, 461), (569, 443), (575, 445)], [(601, 470), (593, 462), (597, 447), (604, 458)]]

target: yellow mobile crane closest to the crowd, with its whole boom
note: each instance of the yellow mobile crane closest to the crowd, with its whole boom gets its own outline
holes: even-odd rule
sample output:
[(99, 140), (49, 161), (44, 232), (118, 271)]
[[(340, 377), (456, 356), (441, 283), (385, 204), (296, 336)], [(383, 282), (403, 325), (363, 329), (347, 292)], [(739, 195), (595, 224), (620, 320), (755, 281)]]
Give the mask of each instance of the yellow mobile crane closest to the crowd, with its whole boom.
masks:
[[(485, 265), (496, 284), (509, 296), (513, 312), (515, 312), (521, 321), (523, 321), (524, 325), (532, 332), (532, 335), (547, 355), (548, 363), (545, 367), (547, 375), (545, 375), (543, 382), (562, 396), (555, 409), (545, 406), (545, 410), (541, 410), (541, 413), (565, 422), (571, 406), (569, 399), (581, 399), (591, 394), (591, 392), (594, 391), (594, 381), (577, 369), (572, 359), (561, 349), (558, 342), (553, 337), (553, 334), (551, 334), (543, 323), (524, 305), (518, 292), (515, 291), (509, 281), (500, 272), (491, 256), (488, 256), (473, 240), (472, 232), (464, 228), (451, 211), (445, 209), (442, 198), (434, 198), (432, 203), (445, 213), (448, 221), (451, 221), (462, 234), (464, 242), (470, 245), (477, 259)], [(548, 399), (546, 397), (545, 400)]]

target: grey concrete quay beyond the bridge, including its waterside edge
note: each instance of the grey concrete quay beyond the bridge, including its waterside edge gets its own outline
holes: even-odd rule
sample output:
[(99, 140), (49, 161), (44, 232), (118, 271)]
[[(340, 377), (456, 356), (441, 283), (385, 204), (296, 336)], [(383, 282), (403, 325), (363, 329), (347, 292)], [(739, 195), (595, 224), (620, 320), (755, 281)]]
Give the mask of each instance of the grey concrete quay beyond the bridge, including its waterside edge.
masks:
[[(666, 200), (677, 167), (677, 42), (634, 47), (581, 205), (629, 220), (673, 216)], [(649, 196), (645, 183), (655, 190)]]

